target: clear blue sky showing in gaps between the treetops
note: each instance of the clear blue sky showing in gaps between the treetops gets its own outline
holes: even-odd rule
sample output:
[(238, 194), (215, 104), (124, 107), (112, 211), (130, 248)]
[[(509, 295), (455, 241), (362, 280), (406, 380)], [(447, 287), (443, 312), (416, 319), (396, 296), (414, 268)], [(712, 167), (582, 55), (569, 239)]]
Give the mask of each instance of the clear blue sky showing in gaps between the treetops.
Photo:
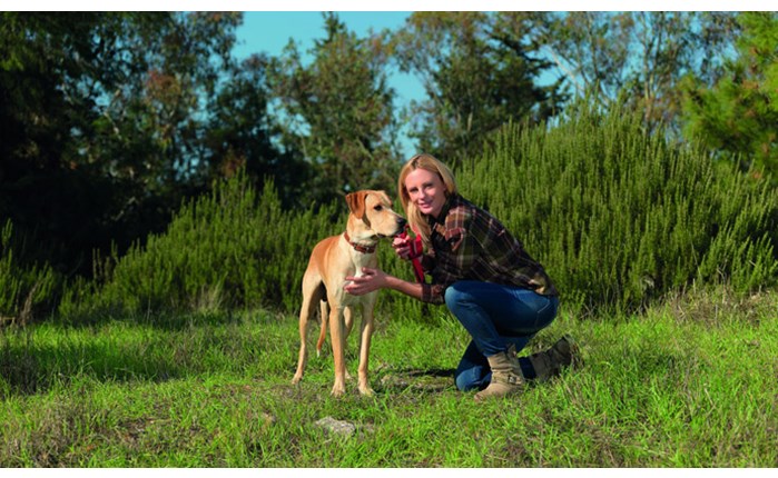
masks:
[[(411, 14), (410, 11), (338, 11), (337, 16), (349, 31), (357, 37), (366, 37), (368, 31), (385, 28), (397, 29)], [(238, 59), (253, 53), (265, 52), (277, 57), (293, 39), (298, 51), (305, 53), (314, 40), (325, 36), (324, 18), (321, 11), (246, 11), (244, 23), (238, 27), (237, 46), (234, 54)], [(421, 100), (424, 89), (418, 79), (411, 74), (391, 71), (390, 86), (395, 90), (395, 110), (406, 106), (412, 99)], [(404, 155), (412, 155), (413, 147), (403, 136), (401, 138)]]

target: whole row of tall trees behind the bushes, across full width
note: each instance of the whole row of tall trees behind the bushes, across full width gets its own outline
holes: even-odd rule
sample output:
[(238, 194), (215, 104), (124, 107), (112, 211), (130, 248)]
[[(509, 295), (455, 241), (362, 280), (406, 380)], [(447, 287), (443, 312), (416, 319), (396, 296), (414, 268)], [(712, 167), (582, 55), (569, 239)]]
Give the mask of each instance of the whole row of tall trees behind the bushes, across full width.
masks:
[[(558, 121), (570, 86), (670, 135), (678, 80), (692, 73), (689, 137), (775, 172), (769, 13), (416, 12), (365, 38), (328, 13), (311, 60), (292, 43), (240, 64), (240, 13), (0, 16), (0, 223), (30, 245), (20, 267), (50, 265), (83, 286), (77, 296), (92, 258), (161, 232), (183, 200), (238, 170), (255, 187), (272, 179), (286, 210), (391, 191), (403, 121), (420, 149), (459, 166), (508, 122)], [(401, 119), (397, 66), (427, 91)]]

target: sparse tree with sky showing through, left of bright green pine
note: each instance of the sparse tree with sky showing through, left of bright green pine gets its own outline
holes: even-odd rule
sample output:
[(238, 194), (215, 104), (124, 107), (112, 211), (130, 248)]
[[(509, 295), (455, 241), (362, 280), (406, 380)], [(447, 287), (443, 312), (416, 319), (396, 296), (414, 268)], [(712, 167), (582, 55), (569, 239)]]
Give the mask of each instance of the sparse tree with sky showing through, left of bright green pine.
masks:
[(565, 12), (539, 17), (538, 41), (567, 81), (603, 108), (626, 99), (649, 131), (674, 126), (688, 73), (711, 83), (737, 34), (727, 12)]

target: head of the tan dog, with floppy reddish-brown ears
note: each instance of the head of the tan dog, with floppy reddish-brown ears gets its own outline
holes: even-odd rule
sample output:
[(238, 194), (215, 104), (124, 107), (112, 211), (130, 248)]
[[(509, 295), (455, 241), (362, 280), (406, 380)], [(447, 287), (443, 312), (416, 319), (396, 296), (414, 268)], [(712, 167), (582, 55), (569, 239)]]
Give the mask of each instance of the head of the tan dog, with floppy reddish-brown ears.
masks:
[[(361, 190), (346, 195), (351, 215), (349, 229), (367, 237), (393, 237), (405, 229), (405, 218), (392, 210), (392, 200), (384, 191)], [(356, 237), (356, 236), (355, 236)]]

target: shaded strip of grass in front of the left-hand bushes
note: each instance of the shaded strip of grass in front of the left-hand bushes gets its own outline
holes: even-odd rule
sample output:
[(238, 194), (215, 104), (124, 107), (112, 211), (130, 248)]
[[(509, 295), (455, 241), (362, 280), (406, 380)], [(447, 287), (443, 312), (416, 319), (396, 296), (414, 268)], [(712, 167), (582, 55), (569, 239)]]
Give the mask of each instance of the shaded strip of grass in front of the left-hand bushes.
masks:
[[(46, 392), (76, 377), (155, 382), (206, 371), (206, 353), (224, 355), (226, 361), (256, 353), (246, 351), (250, 337), (230, 338), (225, 330), (274, 320), (272, 315), (257, 318), (229, 312), (93, 316), (52, 319), (52, 330), (43, 332), (45, 339), (38, 339), (36, 326), (0, 330), (0, 399)], [(141, 331), (122, 339), (124, 331), (135, 326)], [(57, 336), (60, 329), (61, 338)], [(77, 339), (70, 340), (73, 331)]]

